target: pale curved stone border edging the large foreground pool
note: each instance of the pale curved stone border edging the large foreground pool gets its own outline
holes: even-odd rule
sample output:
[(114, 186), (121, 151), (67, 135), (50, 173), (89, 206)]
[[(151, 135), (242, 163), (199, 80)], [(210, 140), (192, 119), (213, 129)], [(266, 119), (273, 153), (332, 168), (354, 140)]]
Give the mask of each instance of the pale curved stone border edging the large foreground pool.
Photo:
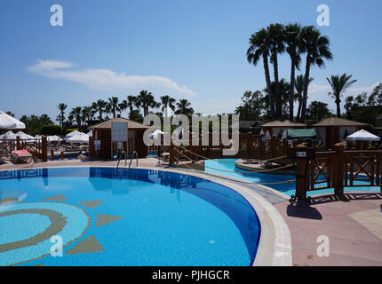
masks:
[[(115, 168), (115, 166), (68, 166), (68, 167), (34, 167), (28, 169), (6, 169), (9, 170), (37, 170), (37, 169), (57, 169), (57, 168)], [(120, 169), (124, 169), (121, 167)], [(260, 240), (255, 261), (253, 266), (291, 266), (292, 264), (292, 250), (291, 238), (288, 225), (285, 223), (282, 215), (275, 209), (275, 207), (267, 201), (264, 197), (260, 196), (253, 189), (244, 187), (243, 185), (235, 185), (228, 182), (225, 178), (210, 175), (208, 172), (203, 174), (193, 171), (179, 170), (178, 169), (156, 169), (150, 167), (134, 167), (132, 169), (140, 170), (158, 170), (178, 173), (181, 175), (188, 175), (192, 177), (200, 177), (219, 185), (224, 185), (239, 193), (243, 198), (251, 204), (251, 207), (256, 211), (260, 222)], [(208, 177), (206, 177), (208, 176)], [(271, 192), (275, 190), (262, 185)]]

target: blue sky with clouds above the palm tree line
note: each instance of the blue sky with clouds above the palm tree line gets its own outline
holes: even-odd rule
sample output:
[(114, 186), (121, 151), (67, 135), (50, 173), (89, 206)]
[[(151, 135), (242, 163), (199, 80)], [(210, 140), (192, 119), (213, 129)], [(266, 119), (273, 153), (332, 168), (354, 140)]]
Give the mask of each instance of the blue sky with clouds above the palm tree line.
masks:
[[(63, 27), (50, 24), (52, 4), (63, 7)], [(382, 80), (380, 0), (4, 0), (0, 109), (54, 120), (61, 102), (87, 106), (147, 89), (189, 99), (196, 112), (233, 112), (244, 91), (265, 86), (262, 66), (245, 58), (251, 34), (274, 22), (316, 25), (320, 4), (330, 7), (330, 27), (318, 28), (334, 59), (312, 69), (309, 95), (334, 111), (326, 77), (353, 75), (349, 95)], [(279, 72), (290, 77), (287, 56)]]

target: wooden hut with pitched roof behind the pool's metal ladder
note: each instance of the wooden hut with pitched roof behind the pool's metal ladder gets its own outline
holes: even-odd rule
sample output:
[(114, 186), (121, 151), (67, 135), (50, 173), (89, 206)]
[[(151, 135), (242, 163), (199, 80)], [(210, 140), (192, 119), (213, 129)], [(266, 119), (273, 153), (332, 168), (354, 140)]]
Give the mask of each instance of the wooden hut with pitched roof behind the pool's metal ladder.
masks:
[[(139, 157), (146, 157), (147, 146), (143, 143), (143, 133), (147, 130), (148, 126), (123, 118), (121, 115), (117, 115), (117, 117), (107, 122), (100, 122), (89, 128), (92, 130), (92, 138), (89, 140), (91, 156), (99, 159), (110, 159), (117, 154), (117, 145), (115, 142), (111, 142), (112, 122), (128, 122), (129, 139), (127, 142), (123, 142), (123, 151), (127, 154), (136, 151)], [(96, 149), (94, 141), (100, 141), (98, 142), (100, 143), (99, 149)]]

